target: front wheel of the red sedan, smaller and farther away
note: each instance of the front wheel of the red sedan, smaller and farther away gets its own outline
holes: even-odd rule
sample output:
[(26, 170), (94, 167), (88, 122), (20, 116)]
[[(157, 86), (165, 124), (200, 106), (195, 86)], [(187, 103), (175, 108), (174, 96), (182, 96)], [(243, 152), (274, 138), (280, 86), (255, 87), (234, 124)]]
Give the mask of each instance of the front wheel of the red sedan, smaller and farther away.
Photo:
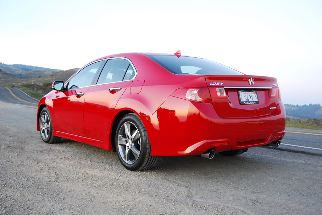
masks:
[(56, 143), (61, 141), (61, 137), (52, 135), (52, 117), (47, 107), (43, 108), (39, 116), (39, 130), (43, 142)]

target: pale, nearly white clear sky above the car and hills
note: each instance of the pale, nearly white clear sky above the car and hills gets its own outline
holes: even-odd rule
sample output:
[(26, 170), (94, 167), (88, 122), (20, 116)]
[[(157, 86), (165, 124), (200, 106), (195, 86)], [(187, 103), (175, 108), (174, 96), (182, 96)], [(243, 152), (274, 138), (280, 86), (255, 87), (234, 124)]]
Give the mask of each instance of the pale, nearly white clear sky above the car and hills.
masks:
[(284, 103), (322, 104), (321, 0), (0, 0), (0, 62), (81, 68), (124, 52), (201, 57), (276, 77)]

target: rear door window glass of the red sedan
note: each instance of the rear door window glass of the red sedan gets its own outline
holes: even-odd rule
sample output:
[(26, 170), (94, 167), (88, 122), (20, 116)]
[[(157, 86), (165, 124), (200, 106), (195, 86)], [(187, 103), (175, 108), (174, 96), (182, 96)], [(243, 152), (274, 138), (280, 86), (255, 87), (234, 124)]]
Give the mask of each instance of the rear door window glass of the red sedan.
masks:
[(125, 76), (129, 76), (126, 75), (128, 74), (129, 67), (132, 68), (130, 63), (125, 59), (109, 59), (105, 64), (101, 74), (99, 75), (99, 80), (97, 81), (97, 84), (123, 81)]

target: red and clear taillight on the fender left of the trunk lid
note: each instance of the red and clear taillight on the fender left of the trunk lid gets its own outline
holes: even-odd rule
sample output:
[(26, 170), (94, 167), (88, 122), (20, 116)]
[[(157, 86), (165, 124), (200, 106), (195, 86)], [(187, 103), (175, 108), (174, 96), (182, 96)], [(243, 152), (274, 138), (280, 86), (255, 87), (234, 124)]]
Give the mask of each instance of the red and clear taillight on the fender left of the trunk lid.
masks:
[(204, 102), (210, 98), (207, 87), (180, 88), (175, 90), (171, 96), (196, 102)]

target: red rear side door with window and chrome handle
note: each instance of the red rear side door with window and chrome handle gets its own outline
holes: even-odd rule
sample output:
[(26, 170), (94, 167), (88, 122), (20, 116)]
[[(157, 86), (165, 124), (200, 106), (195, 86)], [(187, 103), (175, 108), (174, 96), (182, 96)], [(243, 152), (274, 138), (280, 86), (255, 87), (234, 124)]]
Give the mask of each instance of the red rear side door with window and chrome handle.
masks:
[(89, 138), (105, 140), (116, 103), (136, 76), (127, 59), (109, 59), (84, 103), (84, 126)]

